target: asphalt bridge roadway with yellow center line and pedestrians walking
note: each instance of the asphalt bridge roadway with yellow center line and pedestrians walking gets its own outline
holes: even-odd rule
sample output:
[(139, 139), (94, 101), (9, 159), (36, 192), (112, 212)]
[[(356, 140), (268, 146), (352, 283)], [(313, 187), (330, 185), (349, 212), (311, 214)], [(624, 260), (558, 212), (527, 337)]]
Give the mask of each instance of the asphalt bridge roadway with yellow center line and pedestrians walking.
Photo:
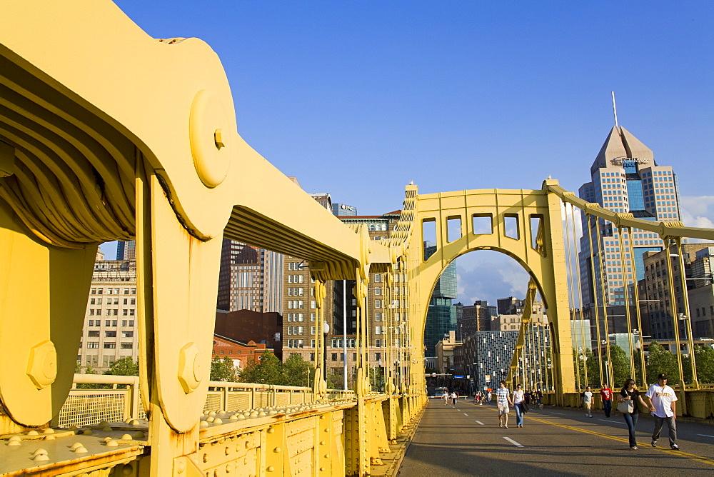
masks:
[[(690, 475), (714, 474), (714, 426), (678, 421), (681, 451), (668, 446), (666, 426), (660, 446), (650, 440), (653, 420), (640, 413), (636, 428), (639, 449), (630, 450), (627, 426), (615, 413), (593, 418), (576, 409), (531, 409), (523, 428), (516, 427), (511, 409), (508, 429), (498, 427), (493, 404), (460, 401), (444, 406), (430, 399), (398, 475)], [(520, 447), (522, 446), (522, 447)], [(663, 447), (664, 446), (664, 447)]]

